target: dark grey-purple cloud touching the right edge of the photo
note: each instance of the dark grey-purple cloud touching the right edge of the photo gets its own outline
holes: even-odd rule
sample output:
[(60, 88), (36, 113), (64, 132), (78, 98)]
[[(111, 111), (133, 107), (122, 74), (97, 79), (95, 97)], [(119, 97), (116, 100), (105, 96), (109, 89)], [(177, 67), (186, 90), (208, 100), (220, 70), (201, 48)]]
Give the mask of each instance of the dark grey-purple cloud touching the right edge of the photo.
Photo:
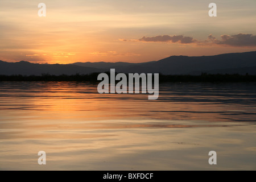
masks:
[(211, 41), (228, 46), (256, 47), (256, 35), (253, 34), (221, 35), (221, 40), (212, 39)]

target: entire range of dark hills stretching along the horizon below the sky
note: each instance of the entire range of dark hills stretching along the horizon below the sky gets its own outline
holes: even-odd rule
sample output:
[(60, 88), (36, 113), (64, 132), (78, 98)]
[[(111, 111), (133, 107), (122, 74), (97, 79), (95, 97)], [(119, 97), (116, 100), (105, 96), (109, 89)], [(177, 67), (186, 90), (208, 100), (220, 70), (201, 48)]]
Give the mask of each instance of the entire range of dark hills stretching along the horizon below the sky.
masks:
[(33, 64), (26, 61), (7, 63), (0, 61), (0, 75), (75, 75), (110, 71), (123, 73), (162, 73), (163, 75), (200, 75), (221, 73), (256, 75), (256, 51), (225, 53), (215, 56), (170, 56), (146, 63), (73, 63)]

